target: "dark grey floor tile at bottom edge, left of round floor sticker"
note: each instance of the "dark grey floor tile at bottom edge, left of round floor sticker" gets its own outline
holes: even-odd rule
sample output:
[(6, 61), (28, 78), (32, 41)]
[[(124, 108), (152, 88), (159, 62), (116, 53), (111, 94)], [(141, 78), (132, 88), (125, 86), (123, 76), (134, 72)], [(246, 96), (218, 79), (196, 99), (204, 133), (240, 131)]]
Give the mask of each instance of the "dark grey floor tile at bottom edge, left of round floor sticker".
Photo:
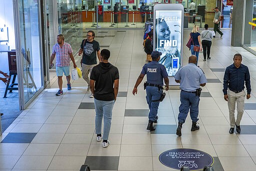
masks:
[(91, 170), (118, 170), (119, 156), (86, 156)]

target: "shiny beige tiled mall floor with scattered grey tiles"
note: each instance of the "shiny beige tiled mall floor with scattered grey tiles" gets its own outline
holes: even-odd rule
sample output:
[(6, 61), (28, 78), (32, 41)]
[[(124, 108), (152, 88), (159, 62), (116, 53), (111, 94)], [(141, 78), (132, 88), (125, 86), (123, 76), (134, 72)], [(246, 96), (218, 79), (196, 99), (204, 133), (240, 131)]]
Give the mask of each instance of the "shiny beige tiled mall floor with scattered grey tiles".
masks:
[[(184, 30), (184, 42), (190, 29)], [(143, 86), (131, 93), (145, 61), (143, 30), (98, 30), (96, 40), (111, 51), (110, 62), (119, 69), (119, 94), (113, 107), (110, 145), (102, 148), (95, 140), (94, 104), (83, 79), (72, 81), (72, 90), (55, 96), (57, 81), (50, 72), (47, 89), (14, 120), (0, 136), (0, 170), (79, 170), (89, 164), (92, 170), (174, 170), (158, 157), (173, 148), (193, 148), (210, 154), (214, 170), (256, 170), (256, 56), (241, 47), (230, 46), (231, 30), (223, 30), (213, 39), (211, 59), (198, 65), (208, 83), (202, 87), (198, 131), (191, 132), (188, 116), (182, 136), (175, 134), (179, 106), (178, 89), (170, 89), (159, 105), (158, 123), (146, 131), (148, 108)], [(113, 35), (113, 36), (105, 36)], [(73, 47), (75, 48), (75, 47)], [(242, 63), (251, 74), (251, 98), (245, 100), (241, 133), (229, 134), (227, 103), (223, 99), (224, 68), (232, 63), (234, 53), (241, 53)], [(190, 52), (183, 48), (183, 64)], [(75, 56), (78, 62), (80, 57)], [(65, 80), (63, 81), (65, 85)]]

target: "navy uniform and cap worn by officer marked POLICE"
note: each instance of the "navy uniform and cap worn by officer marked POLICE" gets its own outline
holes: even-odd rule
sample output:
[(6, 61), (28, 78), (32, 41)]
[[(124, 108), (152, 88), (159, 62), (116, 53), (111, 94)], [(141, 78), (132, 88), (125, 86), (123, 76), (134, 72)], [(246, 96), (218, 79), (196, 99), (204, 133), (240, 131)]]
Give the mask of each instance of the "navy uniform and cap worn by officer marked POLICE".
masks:
[[(155, 51), (153, 51), (151, 55), (154, 56), (154, 52)], [(157, 54), (158, 56), (161, 55), (161, 53), (158, 51)], [(146, 63), (142, 68), (141, 74), (147, 75), (145, 89), (146, 102), (149, 107), (148, 119), (150, 121), (155, 121), (157, 119), (157, 109), (159, 106), (160, 97), (162, 95), (163, 78), (168, 77), (168, 74), (166, 72), (165, 67), (155, 60), (152, 60), (150, 63)]]

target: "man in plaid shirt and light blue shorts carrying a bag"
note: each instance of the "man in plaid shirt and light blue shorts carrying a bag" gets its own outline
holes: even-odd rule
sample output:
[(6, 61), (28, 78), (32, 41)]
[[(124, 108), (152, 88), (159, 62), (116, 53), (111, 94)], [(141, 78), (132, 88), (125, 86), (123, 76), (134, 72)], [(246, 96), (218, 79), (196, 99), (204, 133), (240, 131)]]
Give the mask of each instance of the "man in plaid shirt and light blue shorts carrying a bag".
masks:
[(73, 50), (70, 44), (64, 42), (64, 36), (62, 34), (57, 35), (57, 43), (52, 47), (52, 53), (50, 55), (50, 64), (53, 66), (53, 59), (56, 55), (56, 74), (58, 77), (58, 92), (55, 95), (63, 94), (62, 90), (62, 75), (66, 76), (67, 90), (71, 90), (70, 75), (69, 75), (69, 58), (73, 62), (73, 67), (76, 68), (74, 57), (72, 54)]

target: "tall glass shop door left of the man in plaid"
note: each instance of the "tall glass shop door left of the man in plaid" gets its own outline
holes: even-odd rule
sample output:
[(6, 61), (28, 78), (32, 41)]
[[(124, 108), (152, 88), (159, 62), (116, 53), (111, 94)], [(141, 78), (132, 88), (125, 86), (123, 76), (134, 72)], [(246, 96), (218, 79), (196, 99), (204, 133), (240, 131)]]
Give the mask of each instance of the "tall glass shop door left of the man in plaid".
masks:
[(14, 2), (16, 56), (21, 109), (43, 88), (39, 0)]

